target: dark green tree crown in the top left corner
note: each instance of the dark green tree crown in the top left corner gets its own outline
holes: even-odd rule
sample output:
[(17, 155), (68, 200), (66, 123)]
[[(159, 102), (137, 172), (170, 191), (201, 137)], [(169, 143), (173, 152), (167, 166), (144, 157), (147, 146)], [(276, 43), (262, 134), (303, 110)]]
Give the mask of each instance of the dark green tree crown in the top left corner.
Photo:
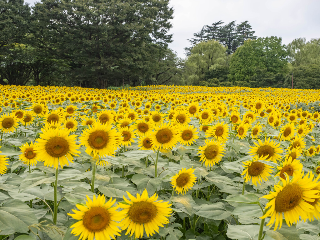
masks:
[(22, 43), (31, 20), (30, 7), (23, 0), (0, 1), (0, 48)]

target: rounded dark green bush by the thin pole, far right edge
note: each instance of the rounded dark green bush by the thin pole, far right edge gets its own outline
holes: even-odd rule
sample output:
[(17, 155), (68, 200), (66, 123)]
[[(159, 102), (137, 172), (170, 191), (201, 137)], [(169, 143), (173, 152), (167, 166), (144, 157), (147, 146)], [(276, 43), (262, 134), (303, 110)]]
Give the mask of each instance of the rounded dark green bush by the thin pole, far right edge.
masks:
[(287, 74), (284, 87), (298, 89), (320, 89), (320, 67), (316, 64), (292, 67)]

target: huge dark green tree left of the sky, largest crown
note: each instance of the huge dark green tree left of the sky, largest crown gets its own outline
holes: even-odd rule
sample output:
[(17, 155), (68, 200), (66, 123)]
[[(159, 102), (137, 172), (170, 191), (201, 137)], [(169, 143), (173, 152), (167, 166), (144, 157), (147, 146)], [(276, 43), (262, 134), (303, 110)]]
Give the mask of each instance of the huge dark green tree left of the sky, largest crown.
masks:
[[(154, 43), (171, 42), (169, 0), (42, 0), (34, 7), (34, 35), (76, 76), (106, 88), (128, 79), (146, 62)], [(129, 81), (129, 80), (128, 80)], [(135, 81), (138, 81), (135, 79)], [(122, 82), (122, 81), (121, 81)]]

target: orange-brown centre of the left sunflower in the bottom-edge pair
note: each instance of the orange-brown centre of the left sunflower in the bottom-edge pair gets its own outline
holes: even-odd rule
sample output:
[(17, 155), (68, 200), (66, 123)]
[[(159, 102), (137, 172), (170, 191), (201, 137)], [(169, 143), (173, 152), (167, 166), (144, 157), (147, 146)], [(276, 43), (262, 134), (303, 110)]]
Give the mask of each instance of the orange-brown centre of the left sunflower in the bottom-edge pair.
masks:
[(110, 214), (103, 207), (92, 207), (83, 215), (83, 225), (90, 232), (100, 232), (110, 223)]

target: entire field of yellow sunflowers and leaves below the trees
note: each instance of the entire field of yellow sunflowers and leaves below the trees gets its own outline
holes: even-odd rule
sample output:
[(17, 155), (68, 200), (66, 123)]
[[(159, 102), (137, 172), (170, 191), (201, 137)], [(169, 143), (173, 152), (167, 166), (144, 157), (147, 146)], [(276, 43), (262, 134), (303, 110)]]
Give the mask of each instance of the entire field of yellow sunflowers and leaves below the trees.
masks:
[(0, 93), (0, 240), (320, 239), (319, 90)]

